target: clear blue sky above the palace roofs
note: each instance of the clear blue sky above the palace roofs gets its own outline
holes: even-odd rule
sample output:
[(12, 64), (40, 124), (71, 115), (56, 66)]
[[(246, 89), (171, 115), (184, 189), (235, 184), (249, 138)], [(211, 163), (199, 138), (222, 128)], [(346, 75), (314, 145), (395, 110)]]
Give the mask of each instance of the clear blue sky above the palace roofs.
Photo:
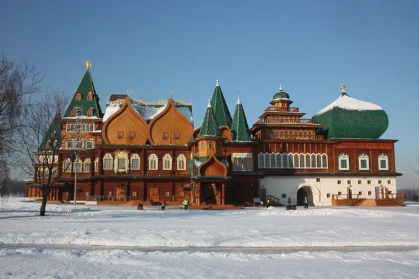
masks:
[(399, 187), (419, 187), (419, 1), (6, 1), (0, 50), (47, 72), (72, 95), (84, 61), (101, 106), (133, 90), (146, 101), (193, 97), (200, 126), (220, 80), (233, 114), (237, 89), (249, 126), (283, 84), (311, 118), (339, 96), (383, 107)]

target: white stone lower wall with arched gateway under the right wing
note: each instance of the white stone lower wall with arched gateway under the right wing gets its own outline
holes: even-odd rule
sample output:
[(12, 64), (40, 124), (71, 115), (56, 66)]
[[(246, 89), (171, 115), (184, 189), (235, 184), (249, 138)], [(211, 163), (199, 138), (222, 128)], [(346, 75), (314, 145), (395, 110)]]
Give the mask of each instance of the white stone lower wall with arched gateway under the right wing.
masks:
[[(341, 183), (338, 184), (338, 181)], [(351, 184), (348, 184), (348, 181), (351, 181)], [(367, 181), (371, 181), (371, 183), (368, 184)], [(291, 197), (292, 204), (296, 204), (297, 191), (308, 186), (313, 193), (311, 202), (315, 206), (331, 206), (332, 195), (338, 195), (339, 192), (341, 193), (339, 198), (346, 199), (348, 187), (352, 189), (353, 198), (375, 199), (377, 186), (388, 188), (388, 191), (393, 194), (397, 193), (396, 176), (265, 176), (260, 180), (259, 185), (260, 188), (266, 188), (266, 195), (281, 199), (281, 204), (287, 204), (288, 197)], [(358, 195), (359, 192), (362, 195)], [(369, 192), (371, 195), (368, 195)]]

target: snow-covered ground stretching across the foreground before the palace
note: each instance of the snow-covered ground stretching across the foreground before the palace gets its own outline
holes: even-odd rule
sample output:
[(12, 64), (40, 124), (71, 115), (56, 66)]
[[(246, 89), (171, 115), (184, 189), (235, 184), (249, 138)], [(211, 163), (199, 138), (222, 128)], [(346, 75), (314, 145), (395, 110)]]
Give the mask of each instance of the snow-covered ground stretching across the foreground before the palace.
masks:
[(0, 199), (0, 278), (416, 278), (419, 271), (419, 249), (408, 249), (419, 246), (418, 205), (137, 211), (47, 204), (45, 217), (40, 206)]

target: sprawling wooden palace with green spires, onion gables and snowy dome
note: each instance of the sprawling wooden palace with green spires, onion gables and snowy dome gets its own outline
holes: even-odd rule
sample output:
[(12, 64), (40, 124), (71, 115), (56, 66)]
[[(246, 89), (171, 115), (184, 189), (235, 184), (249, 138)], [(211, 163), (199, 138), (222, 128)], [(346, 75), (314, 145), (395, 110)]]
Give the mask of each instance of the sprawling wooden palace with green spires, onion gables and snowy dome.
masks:
[[(277, 204), (288, 197), (302, 204), (308, 197), (315, 206), (400, 203), (397, 140), (379, 138), (387, 114), (349, 97), (344, 85), (339, 98), (310, 119), (291, 107), (280, 87), (249, 128), (240, 97), (232, 117), (217, 81), (204, 121), (195, 128), (192, 104), (171, 97), (145, 102), (114, 94), (103, 113), (89, 66), (64, 116), (56, 119), (60, 125), (52, 123), (61, 128), (54, 132), (60, 133), (54, 174), (59, 183), (51, 200), (71, 202), (76, 195), (78, 202), (165, 198), (173, 204), (187, 197), (196, 205), (252, 204), (257, 197)], [(27, 181), (27, 197), (41, 195), (36, 180)]]

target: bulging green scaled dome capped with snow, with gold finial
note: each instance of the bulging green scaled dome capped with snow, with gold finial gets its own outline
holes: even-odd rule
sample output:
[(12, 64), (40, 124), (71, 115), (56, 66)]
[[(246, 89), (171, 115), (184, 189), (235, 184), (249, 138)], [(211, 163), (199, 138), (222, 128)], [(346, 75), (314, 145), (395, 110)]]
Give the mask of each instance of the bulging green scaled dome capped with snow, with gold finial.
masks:
[(342, 93), (327, 107), (313, 116), (314, 122), (321, 124), (318, 135), (325, 140), (344, 139), (378, 139), (388, 128), (388, 116), (378, 105), (351, 98)]

